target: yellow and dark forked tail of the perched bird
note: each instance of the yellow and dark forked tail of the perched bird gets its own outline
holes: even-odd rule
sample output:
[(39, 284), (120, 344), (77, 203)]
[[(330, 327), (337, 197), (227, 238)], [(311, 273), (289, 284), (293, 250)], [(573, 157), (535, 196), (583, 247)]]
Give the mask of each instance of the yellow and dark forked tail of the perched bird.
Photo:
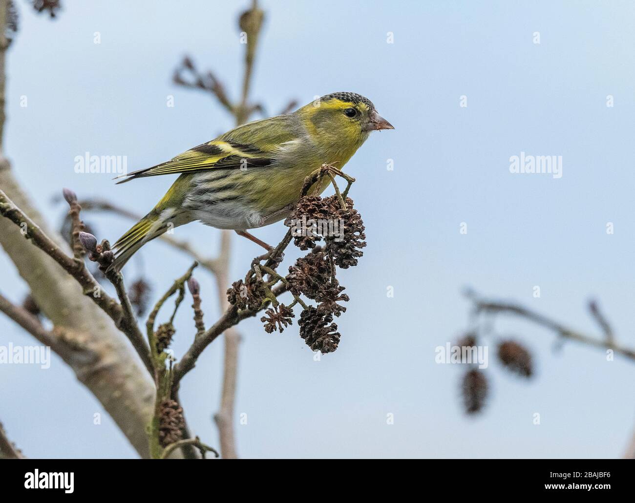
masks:
[(157, 207), (150, 211), (112, 245), (115, 260), (110, 264), (109, 269), (114, 269), (117, 272), (121, 271), (121, 268), (130, 260), (130, 257), (145, 243), (158, 238), (164, 232), (177, 227), (177, 225), (187, 222), (183, 218), (178, 218), (179, 216), (177, 210), (172, 208), (161, 211)]

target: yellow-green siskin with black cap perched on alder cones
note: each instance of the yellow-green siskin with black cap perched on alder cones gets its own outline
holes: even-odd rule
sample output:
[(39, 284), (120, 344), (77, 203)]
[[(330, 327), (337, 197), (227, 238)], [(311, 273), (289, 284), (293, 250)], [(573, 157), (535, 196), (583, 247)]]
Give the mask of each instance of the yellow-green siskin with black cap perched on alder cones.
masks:
[(110, 267), (120, 271), (145, 243), (194, 220), (232, 229), (267, 248), (246, 229), (286, 218), (305, 177), (324, 163), (341, 169), (371, 131), (385, 129), (394, 128), (368, 98), (331, 93), (291, 114), (238, 126), (171, 161), (122, 175), (119, 184), (180, 173), (154, 209), (113, 245)]

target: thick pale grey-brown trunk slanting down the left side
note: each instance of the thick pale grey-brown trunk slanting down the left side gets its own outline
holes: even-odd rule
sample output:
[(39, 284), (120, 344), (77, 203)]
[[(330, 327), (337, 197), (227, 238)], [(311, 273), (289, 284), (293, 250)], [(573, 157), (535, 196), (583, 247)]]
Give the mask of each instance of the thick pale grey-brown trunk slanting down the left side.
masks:
[[(7, 4), (7, 0), (0, 0), (0, 187), (33, 222), (44, 227), (44, 219), (13, 177), (2, 148)], [(62, 243), (59, 236), (54, 239)], [(149, 451), (145, 425), (152, 415), (154, 387), (112, 319), (82, 295), (76, 281), (60, 265), (31, 246), (20, 230), (4, 218), (0, 218), (0, 245), (29, 285), (44, 316), (55, 326), (64, 327), (66, 333), (60, 337), (58, 354), (102, 403), (137, 452), (146, 457)]]

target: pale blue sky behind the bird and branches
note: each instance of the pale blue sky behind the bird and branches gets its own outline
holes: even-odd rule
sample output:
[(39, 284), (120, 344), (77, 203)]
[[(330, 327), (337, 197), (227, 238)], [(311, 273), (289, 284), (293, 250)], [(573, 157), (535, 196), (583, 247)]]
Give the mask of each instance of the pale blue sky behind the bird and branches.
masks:
[[(145, 213), (171, 180), (114, 185), (79, 175), (74, 158), (125, 155), (128, 168), (159, 163), (232, 126), (211, 98), (176, 88), (171, 72), (189, 54), (238, 95), (243, 46), (236, 18), (246, 2), (65, 2), (51, 22), (23, 3), (8, 55), (5, 149), (18, 178), (51, 222), (62, 187)], [(598, 298), (617, 337), (635, 345), (631, 211), (634, 175), (635, 34), (630, 2), (262, 2), (253, 98), (275, 114), (290, 98), (355, 91), (395, 131), (373, 133), (347, 164), (367, 229), (359, 267), (342, 271), (351, 297), (337, 352), (314, 361), (297, 325), (266, 334), (240, 325), (236, 426), (242, 457), (617, 457), (635, 424), (633, 363), (566, 344), (542, 328), (501, 318), (497, 332), (522, 340), (535, 378), (516, 379), (490, 347), (491, 397), (465, 417), (460, 365), (434, 349), (468, 327), (465, 286), (516, 300), (573, 328), (598, 333), (587, 314)], [(95, 32), (101, 43), (93, 43)], [(386, 43), (387, 33), (394, 43)], [(540, 44), (533, 33), (540, 32)], [(172, 95), (175, 107), (166, 106)], [(460, 97), (467, 107), (460, 107)], [(612, 95), (615, 105), (606, 107)], [(20, 106), (26, 96), (28, 106)], [(563, 177), (512, 174), (520, 152), (563, 156)], [(394, 170), (386, 169), (393, 159)], [(84, 215), (111, 239), (130, 222)], [(460, 234), (462, 222), (467, 234)], [(614, 234), (606, 234), (613, 222)], [(281, 224), (255, 232), (276, 243)], [(218, 231), (177, 229), (210, 255)], [(105, 237), (105, 236), (104, 236)], [(240, 238), (238, 238), (240, 239)], [(232, 278), (259, 253), (234, 239)], [(161, 243), (142, 252), (155, 293), (189, 258)], [(299, 252), (298, 252), (299, 255)], [(287, 253), (291, 262), (293, 251)], [(285, 267), (286, 264), (285, 262)], [(5, 295), (27, 292), (0, 255)], [(139, 274), (140, 263), (126, 267)], [(218, 316), (213, 280), (201, 282), (206, 320)], [(533, 286), (541, 289), (534, 298)], [(386, 295), (394, 288), (394, 297)], [(191, 314), (177, 317), (176, 354)], [(2, 340), (31, 344), (0, 319)], [(190, 332), (188, 332), (190, 331)], [(180, 337), (179, 337), (180, 336)], [(5, 344), (2, 342), (1, 344)], [(192, 429), (217, 443), (222, 345), (185, 380)], [(0, 419), (30, 457), (134, 457), (100, 404), (60, 359), (51, 368), (0, 365)], [(540, 413), (540, 425), (533, 414)], [(386, 424), (388, 413), (394, 424)], [(72, 435), (69, 434), (72, 432)]]

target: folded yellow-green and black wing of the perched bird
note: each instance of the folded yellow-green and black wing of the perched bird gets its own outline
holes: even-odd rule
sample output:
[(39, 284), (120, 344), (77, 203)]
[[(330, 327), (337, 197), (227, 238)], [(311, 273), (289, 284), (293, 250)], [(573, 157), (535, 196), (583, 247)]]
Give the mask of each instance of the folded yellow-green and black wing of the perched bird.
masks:
[(157, 175), (269, 166), (275, 162), (279, 146), (297, 137), (293, 132), (295, 128), (289, 127), (294, 125), (293, 121), (287, 117), (291, 116), (271, 117), (244, 124), (166, 163), (121, 175), (117, 178), (125, 179), (117, 184)]

